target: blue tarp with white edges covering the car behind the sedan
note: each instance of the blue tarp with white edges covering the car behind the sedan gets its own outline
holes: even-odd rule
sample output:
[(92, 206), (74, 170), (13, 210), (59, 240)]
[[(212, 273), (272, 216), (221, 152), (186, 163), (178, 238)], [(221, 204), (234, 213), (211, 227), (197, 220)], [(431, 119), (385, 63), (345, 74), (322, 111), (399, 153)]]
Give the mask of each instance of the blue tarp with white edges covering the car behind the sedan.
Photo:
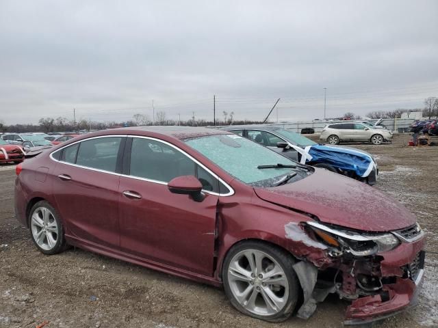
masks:
[(376, 167), (372, 157), (359, 150), (322, 145), (309, 146), (306, 150), (312, 156), (311, 162), (326, 163), (353, 171), (362, 178), (367, 177)]

